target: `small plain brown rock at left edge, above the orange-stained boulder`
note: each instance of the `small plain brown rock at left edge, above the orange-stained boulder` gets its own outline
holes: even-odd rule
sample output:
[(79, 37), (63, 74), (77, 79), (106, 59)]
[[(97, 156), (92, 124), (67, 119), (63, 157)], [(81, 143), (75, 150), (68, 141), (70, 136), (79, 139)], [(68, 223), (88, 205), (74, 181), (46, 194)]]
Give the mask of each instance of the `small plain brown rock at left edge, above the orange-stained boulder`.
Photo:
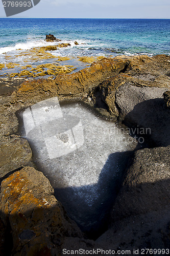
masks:
[(16, 137), (3, 143), (0, 147), (0, 178), (12, 170), (23, 167), (32, 158), (32, 151), (26, 139)]

